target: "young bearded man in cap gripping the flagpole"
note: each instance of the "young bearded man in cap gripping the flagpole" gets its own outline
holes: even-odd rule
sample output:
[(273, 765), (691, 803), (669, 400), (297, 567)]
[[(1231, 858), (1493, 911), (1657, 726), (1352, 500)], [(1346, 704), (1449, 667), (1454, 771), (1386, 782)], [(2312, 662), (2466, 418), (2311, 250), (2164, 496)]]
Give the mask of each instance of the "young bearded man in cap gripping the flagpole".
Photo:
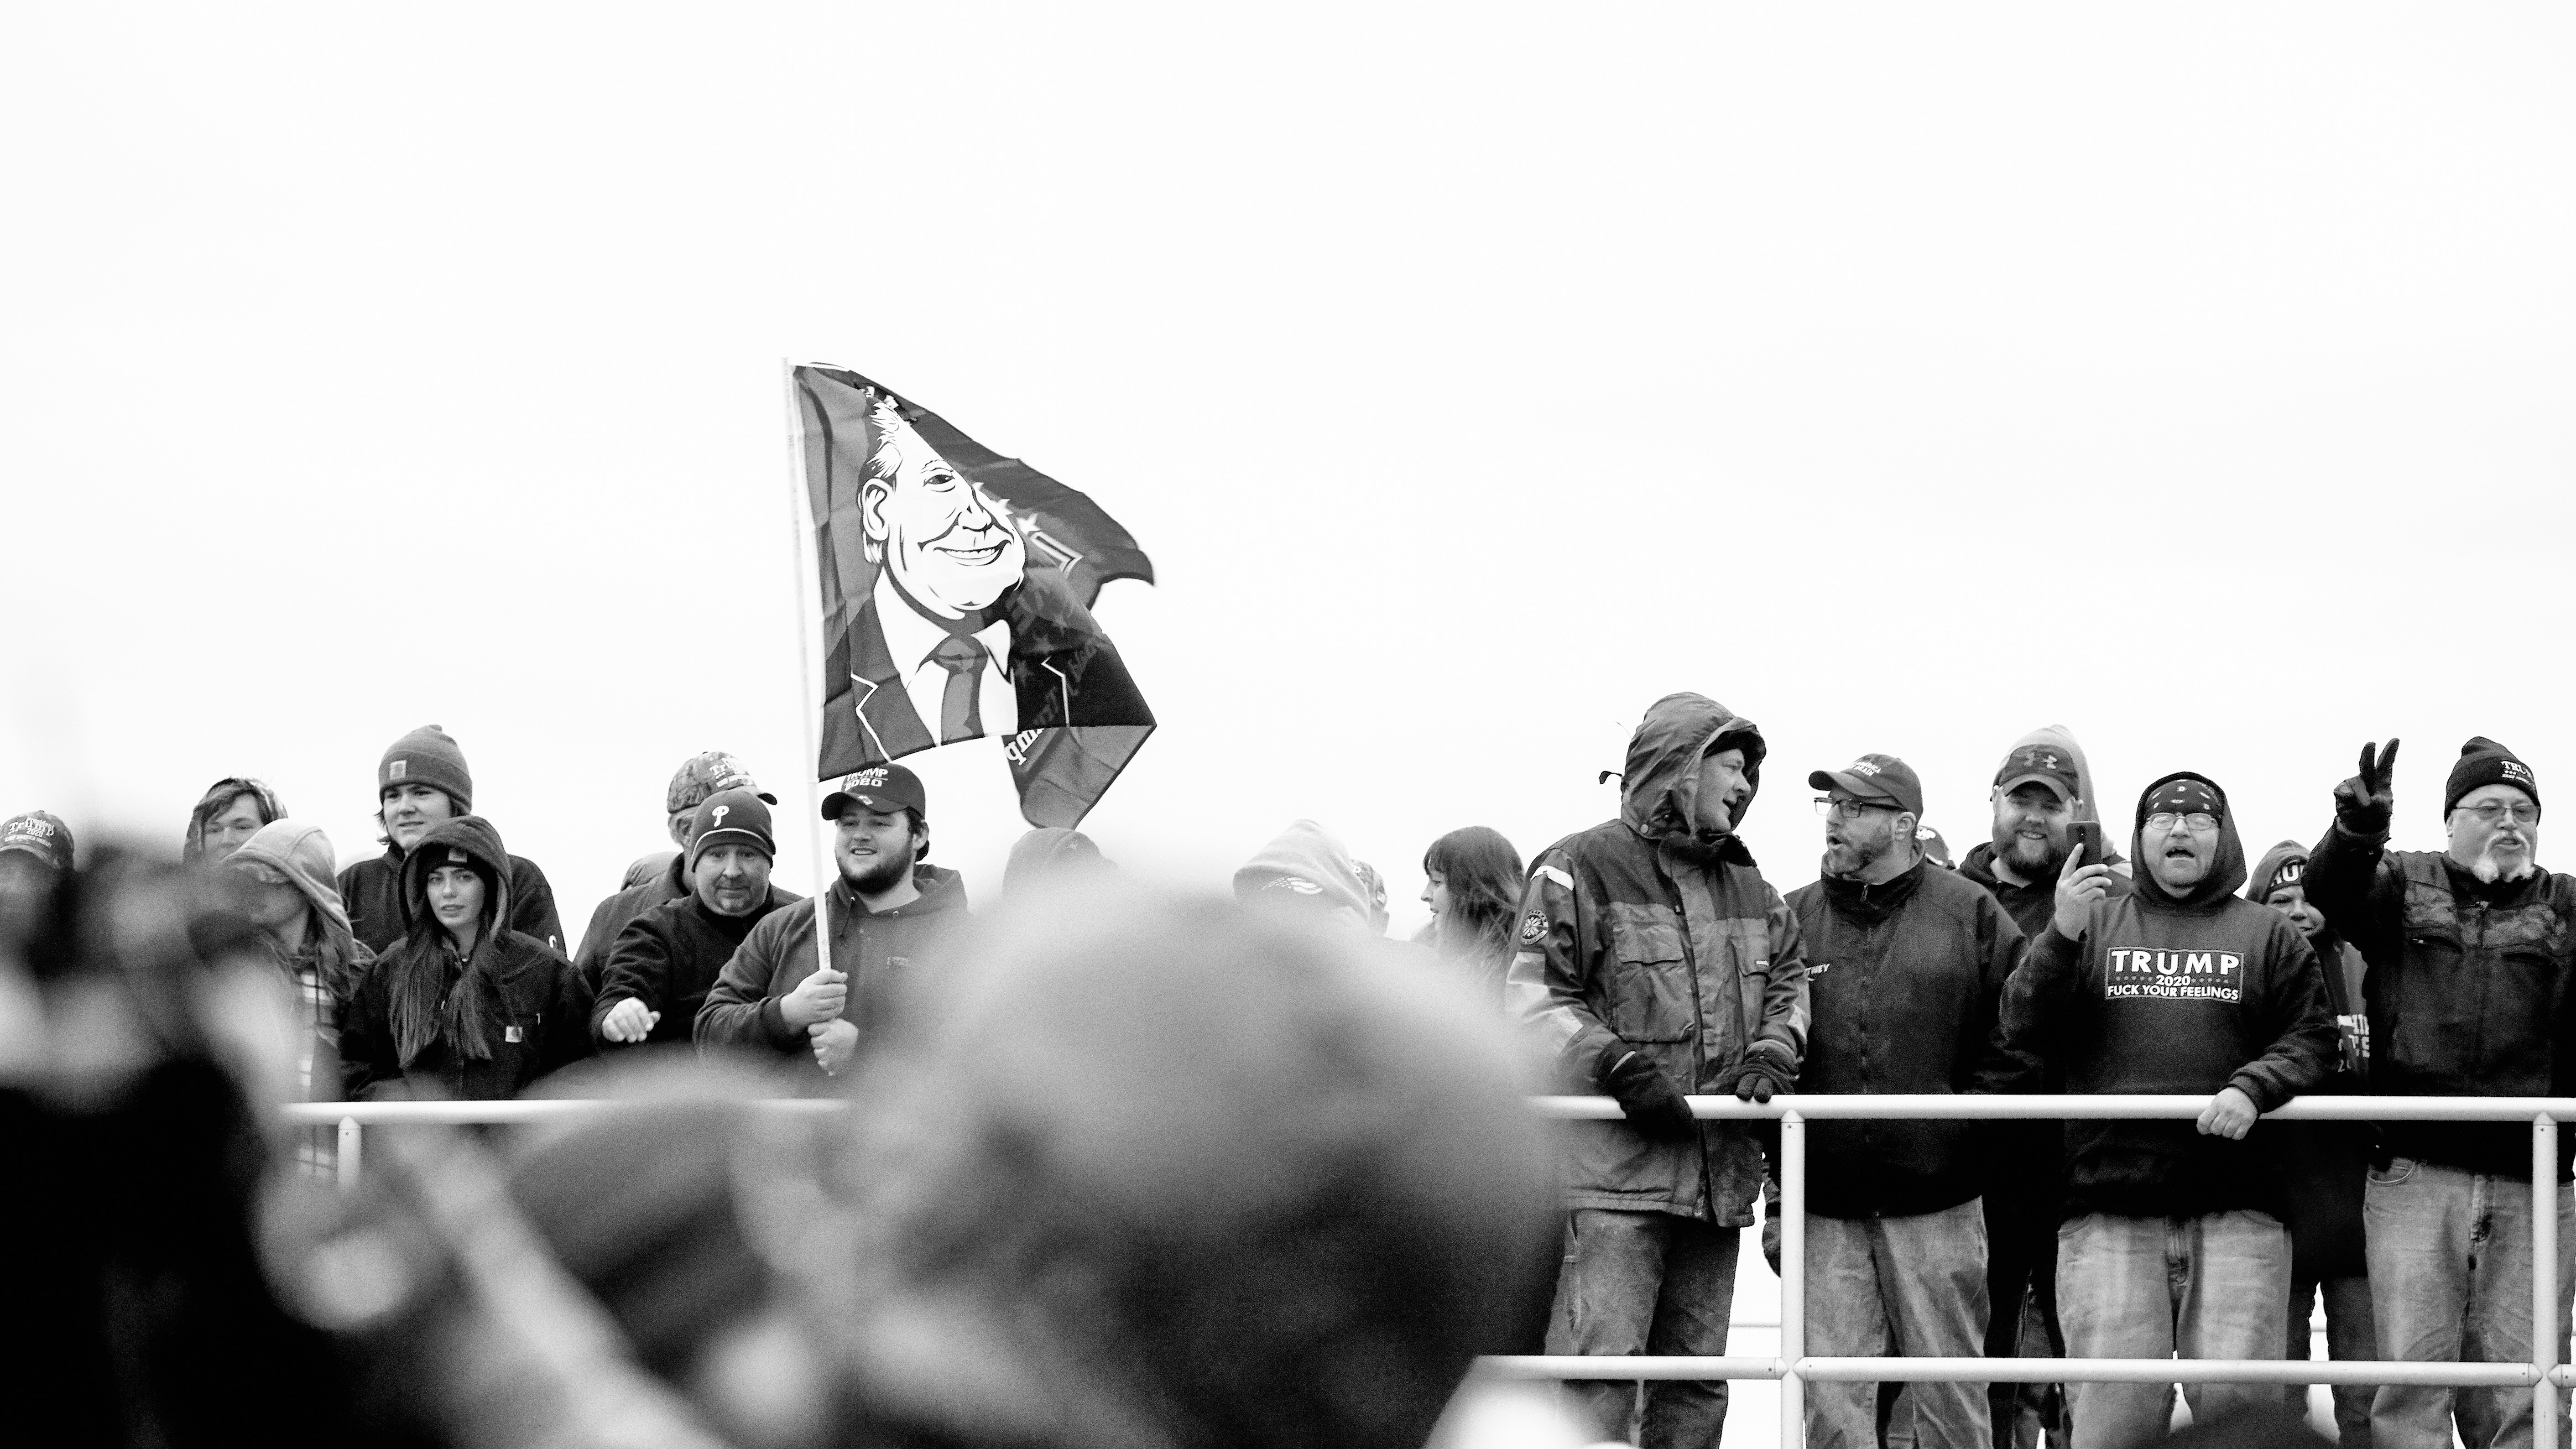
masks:
[(822, 1076), (850, 1071), (863, 1040), (884, 1032), (904, 978), (966, 921), (966, 883), (925, 865), (930, 821), (922, 780), (871, 764), (824, 795), (837, 880), (829, 901), (829, 970), (814, 955), (817, 901), (781, 906), (752, 927), (698, 1009), (701, 1053), (732, 1048), (811, 1058)]

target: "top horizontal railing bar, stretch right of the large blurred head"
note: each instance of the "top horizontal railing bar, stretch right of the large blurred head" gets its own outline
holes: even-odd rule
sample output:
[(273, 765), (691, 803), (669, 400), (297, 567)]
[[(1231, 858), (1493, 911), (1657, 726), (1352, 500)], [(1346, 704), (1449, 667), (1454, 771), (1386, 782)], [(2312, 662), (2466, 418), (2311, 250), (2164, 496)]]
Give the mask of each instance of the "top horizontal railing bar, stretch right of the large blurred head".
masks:
[[(1690, 1112), (1718, 1122), (1772, 1120), (1795, 1112), (1821, 1120), (2025, 1120), (2025, 1117), (2200, 1117), (2208, 1096), (1989, 1096), (1989, 1094), (1780, 1094), (1770, 1102), (1734, 1096), (1690, 1096)], [(1618, 1120), (1613, 1096), (1533, 1096), (1530, 1109), (1556, 1120)], [(2272, 1112), (2267, 1122), (2530, 1122), (2532, 1117), (2576, 1117), (2576, 1096), (2300, 1096)]]

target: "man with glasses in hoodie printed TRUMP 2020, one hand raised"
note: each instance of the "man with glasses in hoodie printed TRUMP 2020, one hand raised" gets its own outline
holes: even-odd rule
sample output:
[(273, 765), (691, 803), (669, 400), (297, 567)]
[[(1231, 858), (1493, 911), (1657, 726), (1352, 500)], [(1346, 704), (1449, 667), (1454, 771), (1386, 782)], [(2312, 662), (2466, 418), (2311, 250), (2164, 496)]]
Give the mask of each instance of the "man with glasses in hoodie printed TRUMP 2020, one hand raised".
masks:
[[(2004, 991), (2014, 1071), (2071, 1094), (2208, 1096), (2197, 1122), (2066, 1125), (2058, 1315), (2079, 1359), (2277, 1359), (2290, 1302), (2262, 1112), (2324, 1078), (2336, 1055), (2316, 950), (2287, 916), (2236, 896), (2244, 844), (2202, 775), (2138, 798), (2136, 888), (2069, 857), (2050, 924)], [(2172, 1385), (2069, 1385), (2074, 1449), (2164, 1436)], [(2272, 1385), (2190, 1385), (2195, 1421), (2272, 1405)]]

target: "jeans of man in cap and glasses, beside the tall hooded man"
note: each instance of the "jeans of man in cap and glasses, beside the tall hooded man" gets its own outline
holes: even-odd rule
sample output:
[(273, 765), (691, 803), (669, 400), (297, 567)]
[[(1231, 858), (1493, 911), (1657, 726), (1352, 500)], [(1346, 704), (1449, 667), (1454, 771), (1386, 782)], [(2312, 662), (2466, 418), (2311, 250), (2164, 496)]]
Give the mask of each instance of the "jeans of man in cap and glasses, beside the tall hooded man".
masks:
[[(1986, 1210), (1806, 1215), (1806, 1351), (1819, 1359), (1986, 1351)], [(1919, 1449), (1994, 1449), (1986, 1385), (1906, 1385)], [(1891, 1426), (1893, 1431), (1896, 1426)], [(1808, 1385), (1811, 1449), (1875, 1449), (1878, 1385)]]

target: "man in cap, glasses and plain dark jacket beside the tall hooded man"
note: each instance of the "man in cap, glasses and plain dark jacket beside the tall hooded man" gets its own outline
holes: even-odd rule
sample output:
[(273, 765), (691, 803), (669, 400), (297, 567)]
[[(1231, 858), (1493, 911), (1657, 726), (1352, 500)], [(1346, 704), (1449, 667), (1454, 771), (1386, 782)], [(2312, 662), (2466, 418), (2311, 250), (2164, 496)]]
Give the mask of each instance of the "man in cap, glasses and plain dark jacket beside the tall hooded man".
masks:
[[(1798, 1091), (1968, 1091), (2004, 1068), (1994, 1024), (2022, 932), (1994, 896), (1924, 860), (1911, 764), (1862, 754), (1806, 782), (1824, 790), (1824, 865), (1788, 896), (1811, 1004)], [(1981, 1166), (1976, 1122), (1808, 1127), (1808, 1354), (1981, 1354)], [(1878, 1385), (1819, 1382), (1806, 1403), (1811, 1446), (1878, 1444)], [(1989, 1449), (1984, 1385), (1909, 1385), (1896, 1403), (1914, 1405), (1919, 1449)]]

